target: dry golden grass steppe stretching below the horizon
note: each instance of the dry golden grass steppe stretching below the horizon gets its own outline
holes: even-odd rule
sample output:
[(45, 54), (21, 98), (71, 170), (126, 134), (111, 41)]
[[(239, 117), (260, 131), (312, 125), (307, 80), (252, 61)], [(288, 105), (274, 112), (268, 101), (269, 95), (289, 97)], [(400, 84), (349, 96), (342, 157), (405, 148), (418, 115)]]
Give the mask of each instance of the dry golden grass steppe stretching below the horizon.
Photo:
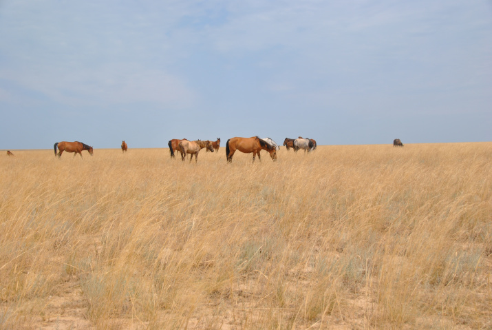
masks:
[(492, 328), (492, 143), (224, 149), (2, 152), (0, 329)]

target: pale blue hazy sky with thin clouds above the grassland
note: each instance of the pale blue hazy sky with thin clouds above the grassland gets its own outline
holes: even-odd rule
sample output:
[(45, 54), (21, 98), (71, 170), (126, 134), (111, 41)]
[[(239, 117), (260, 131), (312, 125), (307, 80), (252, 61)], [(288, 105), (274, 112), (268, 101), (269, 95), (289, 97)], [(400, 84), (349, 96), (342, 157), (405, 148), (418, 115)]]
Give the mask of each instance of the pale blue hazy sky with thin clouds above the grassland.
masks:
[(492, 141), (492, 1), (0, 0), (0, 149)]

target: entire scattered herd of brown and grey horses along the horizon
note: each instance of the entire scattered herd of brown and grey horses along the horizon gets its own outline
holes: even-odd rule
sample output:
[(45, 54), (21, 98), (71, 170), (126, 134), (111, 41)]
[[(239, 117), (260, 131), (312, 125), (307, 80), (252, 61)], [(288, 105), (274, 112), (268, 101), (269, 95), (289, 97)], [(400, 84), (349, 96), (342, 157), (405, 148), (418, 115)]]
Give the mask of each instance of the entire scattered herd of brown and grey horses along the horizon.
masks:
[[(189, 141), (186, 138), (174, 138), (173, 140), (170, 140), (167, 145), (169, 146), (171, 158), (175, 158), (175, 154), (180, 152), (182, 161), (184, 161), (187, 154), (190, 154), (190, 162), (193, 160), (193, 156), (195, 156), (195, 163), (197, 163), (198, 153), (201, 149), (205, 148), (206, 152), (219, 151), (220, 138), (217, 138), (217, 141)], [(310, 152), (317, 147), (316, 141), (312, 138), (303, 138), (301, 136), (299, 136), (299, 138), (286, 138), (283, 145), (287, 150), (292, 148), (295, 152), (299, 149), (303, 149), (304, 152)], [(403, 147), (403, 143), (401, 143), (399, 138), (394, 139), (393, 147)], [(57, 149), (58, 152), (56, 152)], [(275, 143), (275, 141), (271, 138), (259, 138), (258, 136), (252, 136), (250, 138), (234, 137), (227, 140), (226, 157), (227, 162), (232, 163), (235, 152), (239, 150), (239, 152), (243, 152), (244, 154), (253, 153), (253, 163), (255, 163), (256, 156), (258, 156), (259, 161), (261, 161), (261, 150), (266, 150), (266, 152), (270, 154), (272, 160), (277, 161), (277, 150), (279, 149), (279, 145), (277, 145), (277, 143)], [(93, 147), (78, 141), (61, 141), (54, 144), (54, 155), (58, 156), (58, 158), (61, 158), (61, 154), (63, 154), (63, 152), (74, 152), (74, 157), (77, 154), (80, 154), (82, 158), (83, 150), (87, 150), (91, 156), (94, 153)], [(128, 150), (128, 145), (125, 141), (122, 141), (121, 143), (121, 150), (123, 154), (125, 154)], [(10, 150), (7, 150), (7, 156), (14, 156), (14, 154), (12, 154)]]

